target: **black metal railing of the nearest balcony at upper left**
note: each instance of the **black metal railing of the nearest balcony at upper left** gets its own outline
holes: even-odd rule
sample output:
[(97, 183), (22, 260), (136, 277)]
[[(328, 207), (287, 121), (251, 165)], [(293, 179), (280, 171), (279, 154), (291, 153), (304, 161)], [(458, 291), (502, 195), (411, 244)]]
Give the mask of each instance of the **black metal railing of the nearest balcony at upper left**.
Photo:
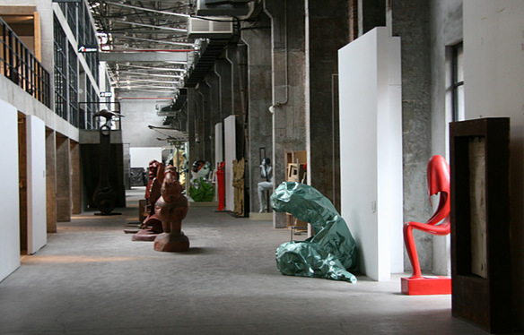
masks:
[(51, 107), (49, 73), (2, 18), (0, 42), (0, 73)]

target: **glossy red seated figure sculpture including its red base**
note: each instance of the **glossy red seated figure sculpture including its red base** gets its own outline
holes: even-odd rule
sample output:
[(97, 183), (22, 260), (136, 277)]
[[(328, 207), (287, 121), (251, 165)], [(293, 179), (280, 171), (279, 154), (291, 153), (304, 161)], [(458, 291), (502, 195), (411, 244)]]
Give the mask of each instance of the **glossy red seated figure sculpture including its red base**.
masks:
[(409, 278), (401, 279), (402, 293), (407, 295), (438, 295), (451, 293), (449, 277), (423, 277), (416, 253), (413, 229), (422, 230), (432, 235), (446, 236), (450, 227), (450, 166), (446, 159), (439, 155), (433, 156), (427, 167), (428, 195), (440, 194), (439, 206), (425, 223), (410, 221), (404, 224), (404, 244), (413, 268)]

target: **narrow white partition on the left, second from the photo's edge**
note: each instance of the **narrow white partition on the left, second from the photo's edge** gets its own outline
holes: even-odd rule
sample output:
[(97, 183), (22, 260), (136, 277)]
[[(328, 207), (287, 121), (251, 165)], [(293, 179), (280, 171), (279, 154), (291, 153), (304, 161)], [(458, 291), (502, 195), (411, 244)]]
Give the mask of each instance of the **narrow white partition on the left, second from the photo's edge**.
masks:
[(27, 253), (48, 242), (46, 206), (46, 126), (27, 116)]

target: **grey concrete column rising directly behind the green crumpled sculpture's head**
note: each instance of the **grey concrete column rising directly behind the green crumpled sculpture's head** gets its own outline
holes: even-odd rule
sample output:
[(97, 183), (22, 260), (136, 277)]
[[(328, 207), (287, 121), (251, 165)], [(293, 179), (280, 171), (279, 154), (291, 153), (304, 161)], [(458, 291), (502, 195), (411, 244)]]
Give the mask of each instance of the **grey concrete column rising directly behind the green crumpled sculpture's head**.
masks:
[[(306, 150), (304, 3), (266, 0), (271, 19), (273, 87), (273, 170), (275, 185), (285, 181), (285, 152)], [(274, 227), (286, 226), (275, 213)]]

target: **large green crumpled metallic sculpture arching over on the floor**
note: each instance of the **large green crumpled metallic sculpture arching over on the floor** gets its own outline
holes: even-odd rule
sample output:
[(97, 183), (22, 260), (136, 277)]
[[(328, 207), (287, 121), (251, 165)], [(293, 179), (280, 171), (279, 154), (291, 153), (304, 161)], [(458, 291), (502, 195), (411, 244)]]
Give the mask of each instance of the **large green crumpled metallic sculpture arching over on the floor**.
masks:
[(276, 249), (276, 267), (284, 275), (356, 282), (354, 238), (329, 200), (310, 185), (284, 182), (271, 195), (276, 211), (309, 222), (315, 236), (291, 241)]

